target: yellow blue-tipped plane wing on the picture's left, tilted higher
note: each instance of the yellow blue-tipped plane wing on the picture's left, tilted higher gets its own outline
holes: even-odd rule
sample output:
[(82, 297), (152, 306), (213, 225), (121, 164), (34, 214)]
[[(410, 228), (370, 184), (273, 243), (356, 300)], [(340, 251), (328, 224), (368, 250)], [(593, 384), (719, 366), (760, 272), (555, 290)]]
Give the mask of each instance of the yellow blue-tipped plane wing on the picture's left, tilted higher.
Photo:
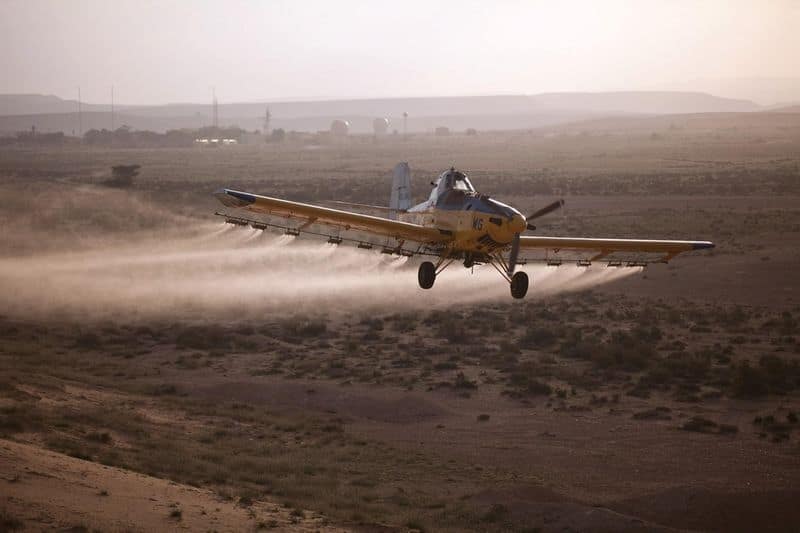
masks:
[(426, 245), (444, 243), (453, 238), (452, 232), (447, 230), (329, 207), (259, 196), (232, 189), (220, 189), (214, 195), (226, 207), (238, 208), (261, 215), (297, 219), (301, 222), (301, 227), (310, 224), (327, 224), (345, 231), (361, 231), (397, 239), (398, 241), (414, 241)]

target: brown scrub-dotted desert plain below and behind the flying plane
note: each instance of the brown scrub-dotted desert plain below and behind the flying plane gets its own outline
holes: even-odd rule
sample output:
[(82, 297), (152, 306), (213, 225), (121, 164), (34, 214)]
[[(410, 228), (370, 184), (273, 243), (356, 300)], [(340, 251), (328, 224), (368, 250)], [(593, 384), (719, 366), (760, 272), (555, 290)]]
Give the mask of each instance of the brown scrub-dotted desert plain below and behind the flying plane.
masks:
[[(455, 165), (543, 235), (667, 265), (491, 268), (226, 225)], [(140, 164), (129, 188), (103, 182)], [(800, 530), (800, 114), (0, 151), (0, 530)]]

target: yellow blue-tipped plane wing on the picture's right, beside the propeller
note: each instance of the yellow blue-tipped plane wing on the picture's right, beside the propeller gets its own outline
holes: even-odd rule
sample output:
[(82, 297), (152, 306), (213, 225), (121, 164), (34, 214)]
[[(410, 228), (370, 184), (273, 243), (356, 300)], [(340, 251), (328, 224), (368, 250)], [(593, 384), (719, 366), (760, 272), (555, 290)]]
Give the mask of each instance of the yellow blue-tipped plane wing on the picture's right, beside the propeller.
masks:
[[(575, 237), (520, 237), (520, 251), (539, 250), (546, 252), (548, 258), (555, 259), (562, 250), (568, 252), (594, 252), (585, 260), (597, 261), (614, 254), (635, 256), (657, 256), (655, 260), (643, 262), (666, 262), (683, 252), (713, 248), (709, 241), (668, 241), (648, 239), (594, 239)], [(556, 254), (550, 256), (549, 254)]]

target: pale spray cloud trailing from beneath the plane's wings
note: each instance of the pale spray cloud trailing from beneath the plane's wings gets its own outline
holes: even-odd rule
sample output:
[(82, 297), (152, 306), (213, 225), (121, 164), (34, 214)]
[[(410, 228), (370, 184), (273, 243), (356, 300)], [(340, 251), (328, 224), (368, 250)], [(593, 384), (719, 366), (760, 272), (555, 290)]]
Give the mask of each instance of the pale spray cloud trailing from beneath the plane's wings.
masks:
[[(491, 266), (454, 263), (432, 290), (417, 285), (415, 260), (216, 223), (193, 235), (165, 232), (77, 251), (0, 259), (5, 313), (126, 321), (236, 319), (297, 312), (413, 310), (511, 301)], [(544, 265), (527, 298), (575, 291), (638, 269)]]

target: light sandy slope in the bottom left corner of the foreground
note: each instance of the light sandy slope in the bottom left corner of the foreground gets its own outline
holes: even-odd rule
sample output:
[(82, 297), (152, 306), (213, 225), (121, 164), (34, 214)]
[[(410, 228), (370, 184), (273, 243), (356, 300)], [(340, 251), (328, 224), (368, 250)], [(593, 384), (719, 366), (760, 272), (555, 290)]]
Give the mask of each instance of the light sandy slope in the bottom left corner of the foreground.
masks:
[[(244, 508), (209, 490), (0, 439), (2, 506), (42, 530), (344, 531), (277, 504)], [(27, 530), (27, 529), (26, 529)]]

